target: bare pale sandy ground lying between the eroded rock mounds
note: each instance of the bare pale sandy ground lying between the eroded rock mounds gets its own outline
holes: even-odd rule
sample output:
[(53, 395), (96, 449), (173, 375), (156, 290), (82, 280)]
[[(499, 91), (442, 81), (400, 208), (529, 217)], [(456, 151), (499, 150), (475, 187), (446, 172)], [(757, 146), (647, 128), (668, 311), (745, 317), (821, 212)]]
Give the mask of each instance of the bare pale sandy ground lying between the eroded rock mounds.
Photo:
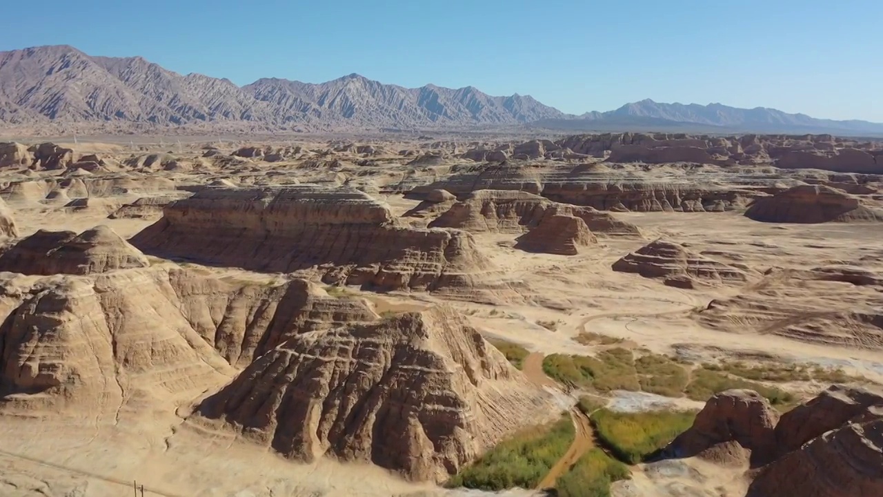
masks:
[[(119, 146), (96, 146), (95, 150), (114, 147)], [(117, 201), (131, 202), (138, 196), (127, 195)], [(416, 205), (397, 196), (387, 200), (399, 213)], [(70, 213), (55, 205), (10, 207), (22, 234), (38, 228), (79, 232), (106, 224), (117, 233), (131, 236), (152, 222), (110, 220), (101, 210)], [(476, 235), (479, 247), (494, 263), (509, 277), (524, 281), (531, 288), (527, 296), (542, 305), (450, 303), (471, 316), (472, 323), (487, 337), (512, 340), (544, 354), (593, 353), (594, 348), (572, 340), (586, 330), (620, 337), (628, 340), (627, 344), (654, 352), (689, 353), (694, 360), (762, 353), (782, 361), (840, 365), (849, 372), (883, 381), (883, 354), (879, 350), (714, 331), (691, 316), (712, 299), (737, 294), (739, 287), (683, 290), (610, 270), (617, 258), (660, 235), (688, 243), (696, 251), (713, 248), (734, 253), (741, 264), (758, 274), (774, 265), (800, 267), (826, 260), (857, 260), (880, 250), (881, 225), (775, 226), (755, 223), (736, 213), (617, 216), (640, 226), (646, 240), (602, 239), (598, 246), (578, 256), (550, 256), (513, 248), (515, 236), (511, 234)], [(238, 270), (207, 271), (236, 278), (272, 277)], [(378, 312), (420, 310), (441, 302), (427, 294), (365, 296)], [(555, 331), (538, 324), (540, 321), (555, 322)], [(46, 413), (34, 413), (36, 418), (4, 417), (0, 421), (0, 496), (131, 495), (132, 480), (147, 487), (145, 495), (170, 497), (486, 494), (415, 485), (367, 465), (329, 460), (291, 463), (238, 440), (221, 439), (216, 434), (209, 437), (191, 428), (178, 429), (196, 397), (162, 406), (134, 404), (123, 411), (118, 424), (113, 417), (41, 418)], [(623, 399), (616, 401), (627, 407), (651, 405), (654, 401), (628, 396)], [(680, 407), (696, 404), (683, 401)], [(617, 494), (732, 497), (742, 495), (743, 488), (740, 471), (696, 461), (669, 462), (640, 467), (630, 482), (617, 484)]]

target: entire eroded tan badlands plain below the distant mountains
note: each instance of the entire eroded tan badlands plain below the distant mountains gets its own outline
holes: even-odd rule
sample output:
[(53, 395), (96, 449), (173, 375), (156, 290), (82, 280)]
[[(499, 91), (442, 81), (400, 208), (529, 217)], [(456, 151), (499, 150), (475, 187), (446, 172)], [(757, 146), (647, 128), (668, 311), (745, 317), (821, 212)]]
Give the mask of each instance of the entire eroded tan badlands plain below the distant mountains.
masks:
[(170, 142), (0, 143), (4, 496), (883, 494), (883, 142)]

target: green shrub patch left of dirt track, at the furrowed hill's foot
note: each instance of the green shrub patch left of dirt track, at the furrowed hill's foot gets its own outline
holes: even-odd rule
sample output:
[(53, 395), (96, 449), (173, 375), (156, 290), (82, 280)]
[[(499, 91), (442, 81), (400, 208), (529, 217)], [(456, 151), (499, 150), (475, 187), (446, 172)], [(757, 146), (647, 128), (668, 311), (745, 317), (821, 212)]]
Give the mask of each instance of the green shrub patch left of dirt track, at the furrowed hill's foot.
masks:
[(573, 422), (566, 415), (553, 424), (518, 432), (451, 477), (445, 486), (492, 492), (516, 486), (534, 488), (567, 452), (574, 435)]

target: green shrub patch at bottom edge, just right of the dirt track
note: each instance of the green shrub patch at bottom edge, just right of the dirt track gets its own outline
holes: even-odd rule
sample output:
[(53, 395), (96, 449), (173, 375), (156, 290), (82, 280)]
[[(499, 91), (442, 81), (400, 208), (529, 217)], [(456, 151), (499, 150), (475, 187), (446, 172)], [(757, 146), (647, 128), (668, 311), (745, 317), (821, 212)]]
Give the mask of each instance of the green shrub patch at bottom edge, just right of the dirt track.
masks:
[(579, 458), (573, 468), (555, 482), (558, 497), (608, 497), (610, 484), (630, 478), (625, 464), (592, 448)]

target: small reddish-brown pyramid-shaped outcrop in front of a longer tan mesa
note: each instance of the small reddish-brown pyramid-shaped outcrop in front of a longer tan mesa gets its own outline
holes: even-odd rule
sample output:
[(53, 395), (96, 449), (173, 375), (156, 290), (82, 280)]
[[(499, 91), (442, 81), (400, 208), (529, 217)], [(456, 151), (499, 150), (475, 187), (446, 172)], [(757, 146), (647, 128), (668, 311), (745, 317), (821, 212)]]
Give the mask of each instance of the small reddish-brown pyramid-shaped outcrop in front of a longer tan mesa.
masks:
[(528, 252), (576, 256), (580, 248), (597, 242), (581, 218), (547, 210), (536, 226), (517, 238), (515, 247)]

